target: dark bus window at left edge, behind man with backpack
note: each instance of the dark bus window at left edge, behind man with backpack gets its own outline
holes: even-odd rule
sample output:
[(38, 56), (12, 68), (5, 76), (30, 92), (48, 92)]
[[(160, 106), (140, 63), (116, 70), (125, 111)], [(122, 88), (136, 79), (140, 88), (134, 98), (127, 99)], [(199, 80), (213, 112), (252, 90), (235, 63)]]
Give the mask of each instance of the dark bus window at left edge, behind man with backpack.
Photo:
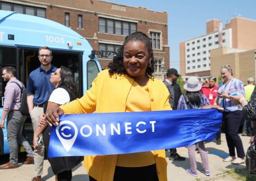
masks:
[[(3, 67), (6, 66), (16, 66), (16, 49), (10, 47), (0, 47), (0, 71)], [(2, 75), (2, 71), (1, 71)], [(3, 78), (0, 81), (0, 101), (2, 101), (2, 97), (4, 96), (4, 87), (6, 86), (6, 82), (3, 82)], [(2, 103), (0, 104), (2, 106)]]

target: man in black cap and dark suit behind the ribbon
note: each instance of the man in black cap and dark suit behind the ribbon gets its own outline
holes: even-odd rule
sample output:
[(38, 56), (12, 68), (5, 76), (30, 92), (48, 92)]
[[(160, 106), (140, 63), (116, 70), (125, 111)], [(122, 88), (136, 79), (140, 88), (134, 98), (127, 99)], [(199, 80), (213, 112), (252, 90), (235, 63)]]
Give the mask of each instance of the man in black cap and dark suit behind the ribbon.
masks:
[[(182, 95), (179, 84), (177, 84), (177, 79), (179, 77), (177, 69), (171, 68), (168, 69), (166, 73), (166, 80), (164, 84), (166, 85), (168, 91), (170, 92), (169, 103), (173, 110), (177, 110), (177, 105), (179, 103), (179, 98)], [(184, 161), (185, 157), (179, 156), (176, 148), (170, 149), (170, 160)]]

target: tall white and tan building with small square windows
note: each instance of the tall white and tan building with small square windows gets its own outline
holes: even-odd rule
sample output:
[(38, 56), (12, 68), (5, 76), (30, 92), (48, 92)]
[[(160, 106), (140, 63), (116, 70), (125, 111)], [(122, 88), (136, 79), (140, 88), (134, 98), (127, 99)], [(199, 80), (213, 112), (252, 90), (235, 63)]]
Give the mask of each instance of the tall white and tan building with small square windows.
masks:
[[(255, 20), (234, 17), (225, 24), (225, 27), (222, 27), (221, 21), (214, 19), (206, 23), (206, 30), (207, 33), (202, 36), (180, 43), (180, 74), (186, 78), (198, 76), (203, 80), (208, 76), (217, 76), (220, 73), (220, 67), (216, 68), (216, 62), (213, 64), (213, 57), (214, 61), (220, 60), (218, 66), (234, 64), (235, 61), (226, 61), (227, 52), (234, 53), (241, 52), (241, 50), (244, 52), (256, 48)], [(217, 55), (221, 55), (217, 51), (216, 55), (212, 57), (213, 50), (220, 47), (224, 47), (221, 51), (224, 51), (223, 55), (225, 54), (225, 56), (217, 57)], [(244, 62), (246, 61), (244, 60)], [(240, 64), (243, 65), (243, 59), (240, 60)], [(245, 71), (243, 70), (244, 66), (239, 66), (239, 68), (241, 72)], [(245, 80), (245, 78), (243, 79)]]

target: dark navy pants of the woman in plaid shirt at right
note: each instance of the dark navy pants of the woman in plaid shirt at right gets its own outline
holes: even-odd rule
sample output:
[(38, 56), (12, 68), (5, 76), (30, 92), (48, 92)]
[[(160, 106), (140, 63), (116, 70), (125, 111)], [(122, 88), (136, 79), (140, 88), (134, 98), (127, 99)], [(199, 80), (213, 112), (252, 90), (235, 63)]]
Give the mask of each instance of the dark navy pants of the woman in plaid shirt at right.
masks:
[(234, 112), (223, 112), (223, 128), (226, 134), (228, 151), (230, 156), (236, 156), (235, 148), (237, 150), (237, 157), (243, 158), (244, 148), (242, 140), (238, 134), (239, 127), (243, 120), (243, 111), (236, 110)]

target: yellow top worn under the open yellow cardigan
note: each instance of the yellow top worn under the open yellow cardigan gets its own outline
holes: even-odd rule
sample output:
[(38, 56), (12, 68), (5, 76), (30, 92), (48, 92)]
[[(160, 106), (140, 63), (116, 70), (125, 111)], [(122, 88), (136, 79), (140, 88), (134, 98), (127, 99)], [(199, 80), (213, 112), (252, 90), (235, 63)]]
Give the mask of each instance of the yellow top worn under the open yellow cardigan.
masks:
[[(140, 99), (138, 99), (137, 95), (140, 95)], [(127, 97), (125, 112), (148, 112), (150, 110), (151, 108), (147, 85), (140, 86), (134, 81), (131, 91)], [(134, 154), (118, 155), (116, 166), (141, 167), (155, 163), (156, 161), (153, 152), (139, 152)]]

